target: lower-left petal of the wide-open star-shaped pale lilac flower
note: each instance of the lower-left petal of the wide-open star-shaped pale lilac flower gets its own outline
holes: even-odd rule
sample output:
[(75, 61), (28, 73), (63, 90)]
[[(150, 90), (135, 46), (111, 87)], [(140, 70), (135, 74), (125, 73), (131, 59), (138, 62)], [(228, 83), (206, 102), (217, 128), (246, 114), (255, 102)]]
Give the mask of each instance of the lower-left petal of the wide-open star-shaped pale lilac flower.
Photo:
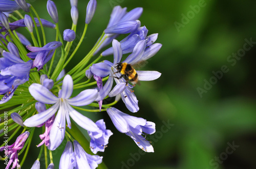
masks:
[(50, 119), (57, 109), (59, 108), (59, 102), (54, 104), (52, 107), (48, 108), (46, 111), (40, 112), (39, 114), (36, 114), (23, 123), (27, 127), (35, 127), (42, 123), (45, 123), (48, 119)]

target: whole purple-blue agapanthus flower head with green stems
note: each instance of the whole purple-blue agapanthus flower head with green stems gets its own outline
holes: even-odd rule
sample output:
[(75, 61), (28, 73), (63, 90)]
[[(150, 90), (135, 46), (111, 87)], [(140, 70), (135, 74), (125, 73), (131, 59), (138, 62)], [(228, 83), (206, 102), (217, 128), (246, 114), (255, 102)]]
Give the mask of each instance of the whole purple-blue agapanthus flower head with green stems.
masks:
[[(40, 168), (40, 161), (48, 161), (44, 164), (47, 168), (56, 167), (52, 153), (55, 150), (63, 152), (58, 159), (59, 168), (104, 168), (103, 156), (97, 153), (104, 152), (116, 131), (131, 137), (143, 151), (154, 152), (146, 135), (155, 133), (155, 123), (131, 114), (139, 113), (136, 84), (161, 76), (158, 71), (134, 66), (157, 54), (162, 46), (155, 43), (158, 34), (148, 35), (150, 31), (141, 26), (138, 19), (142, 8), (127, 11), (116, 6), (102, 35), (95, 37), (94, 47), (78, 61), (77, 51), (84, 50), (87, 27), (93, 26), (93, 16), (99, 12), (97, 1), (90, 0), (86, 11), (79, 13), (85, 16), (80, 23), (78, 3), (70, 0), (72, 25), (60, 32), (60, 7), (54, 1), (45, 2), (52, 20), (37, 14), (33, 4), (25, 0), (0, 1), (0, 136), (5, 139), (0, 155), (6, 169), (22, 167), (34, 142), (33, 149), (39, 153), (29, 157), (34, 161), (27, 164), (31, 168)], [(84, 31), (79, 42), (73, 43), (77, 26), (84, 26)], [(18, 33), (22, 29), (28, 34)], [(45, 35), (49, 29), (56, 31), (54, 41)], [(119, 35), (123, 35), (121, 40), (117, 40)], [(55, 57), (57, 52), (60, 57)], [(71, 60), (78, 63), (70, 64)], [(69, 71), (65, 71), (67, 67)], [(120, 104), (125, 105), (123, 110), (115, 108), (120, 99)], [(102, 119), (95, 112), (106, 113), (110, 118)], [(109, 130), (106, 120), (111, 120), (117, 130)], [(41, 128), (41, 132), (35, 128)], [(65, 149), (60, 146), (63, 142), (67, 142)], [(50, 160), (45, 160), (48, 155)]]

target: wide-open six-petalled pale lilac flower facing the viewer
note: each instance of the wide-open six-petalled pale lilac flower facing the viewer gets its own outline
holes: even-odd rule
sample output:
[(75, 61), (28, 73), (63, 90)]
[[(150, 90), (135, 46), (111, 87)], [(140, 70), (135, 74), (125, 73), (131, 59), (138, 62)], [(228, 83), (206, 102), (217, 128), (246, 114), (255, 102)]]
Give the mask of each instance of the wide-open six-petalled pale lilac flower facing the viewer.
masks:
[(53, 104), (46, 111), (36, 114), (28, 118), (24, 125), (35, 127), (51, 118), (58, 110), (52, 128), (50, 130), (49, 150), (55, 150), (65, 137), (66, 121), (68, 127), (71, 128), (70, 117), (82, 128), (88, 131), (98, 131), (97, 125), (89, 118), (81, 115), (73, 106), (84, 106), (92, 103), (98, 96), (97, 89), (88, 89), (80, 92), (76, 97), (71, 99), (73, 92), (73, 80), (70, 75), (66, 75), (62, 82), (62, 89), (59, 91), (58, 97), (53, 95), (46, 87), (33, 83), (29, 87), (30, 94), (39, 102), (44, 104)]

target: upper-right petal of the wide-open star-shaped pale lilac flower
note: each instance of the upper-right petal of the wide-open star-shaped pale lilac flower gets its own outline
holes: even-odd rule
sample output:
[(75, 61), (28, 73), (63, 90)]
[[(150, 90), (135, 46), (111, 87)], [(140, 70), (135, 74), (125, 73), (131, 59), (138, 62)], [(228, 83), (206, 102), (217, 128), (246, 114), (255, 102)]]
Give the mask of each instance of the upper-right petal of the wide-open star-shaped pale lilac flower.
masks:
[(87, 89), (79, 93), (72, 99), (67, 99), (68, 103), (74, 106), (84, 106), (92, 103), (98, 97), (97, 89)]

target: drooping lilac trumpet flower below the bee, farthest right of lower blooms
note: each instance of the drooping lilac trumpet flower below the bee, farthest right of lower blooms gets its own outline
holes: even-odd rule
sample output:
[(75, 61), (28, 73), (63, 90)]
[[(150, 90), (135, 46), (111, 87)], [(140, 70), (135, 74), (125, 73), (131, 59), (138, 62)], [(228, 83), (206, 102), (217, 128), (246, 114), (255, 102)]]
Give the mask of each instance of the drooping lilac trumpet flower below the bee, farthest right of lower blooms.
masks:
[(153, 146), (143, 135), (145, 135), (144, 133), (155, 133), (155, 123), (147, 122), (143, 118), (127, 115), (115, 107), (106, 109), (106, 112), (108, 112), (108, 115), (118, 131), (130, 136), (143, 151), (154, 152)]

